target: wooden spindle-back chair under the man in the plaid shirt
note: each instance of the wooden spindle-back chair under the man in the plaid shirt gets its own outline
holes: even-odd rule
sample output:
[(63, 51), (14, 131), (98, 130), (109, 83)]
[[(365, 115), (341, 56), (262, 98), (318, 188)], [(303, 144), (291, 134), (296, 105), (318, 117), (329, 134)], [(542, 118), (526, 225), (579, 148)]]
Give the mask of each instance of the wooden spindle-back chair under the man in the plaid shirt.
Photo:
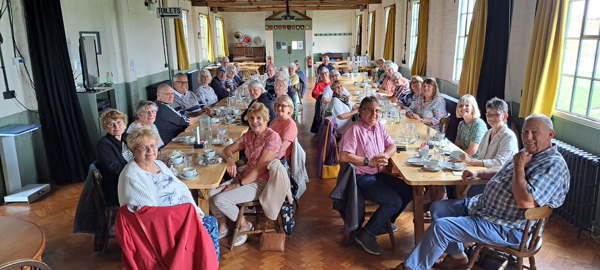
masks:
[[(510, 256), (517, 257), (516, 263), (519, 270), (523, 270), (523, 267), (536, 270), (537, 268), (535, 266), (535, 259), (533, 256), (542, 248), (542, 236), (539, 235), (539, 231), (542, 226), (544, 226), (544, 223), (548, 217), (550, 217), (550, 214), (552, 214), (552, 208), (548, 206), (527, 209), (524, 214), (525, 219), (527, 219), (527, 223), (523, 229), (521, 244), (518, 247), (497, 247), (494, 245), (477, 243), (475, 252), (473, 252), (469, 260), (468, 269), (473, 268), (475, 260), (482, 249), (483, 252), (481, 252), (481, 257), (479, 258), (480, 263), (484, 261), (488, 248), (493, 248), (494, 250), (502, 251), (504, 253), (508, 253)], [(530, 237), (531, 239), (529, 239)], [(529, 258), (529, 267), (523, 266), (523, 258)], [(502, 257), (502, 259), (505, 259), (505, 263), (500, 266), (499, 270), (504, 269), (504, 267), (508, 265), (509, 259), (505, 257)]]

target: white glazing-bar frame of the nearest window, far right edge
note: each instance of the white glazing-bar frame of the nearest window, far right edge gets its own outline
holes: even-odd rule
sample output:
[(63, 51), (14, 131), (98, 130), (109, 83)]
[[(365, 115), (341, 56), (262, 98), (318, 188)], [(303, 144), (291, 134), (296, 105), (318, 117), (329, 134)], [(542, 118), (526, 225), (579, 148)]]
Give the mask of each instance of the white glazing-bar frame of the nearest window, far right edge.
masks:
[[(583, 10), (581, 11), (582, 14), (581, 15), (581, 21), (577, 21), (577, 19), (571, 20), (571, 7), (574, 2), (584, 2), (583, 5)], [(600, 113), (598, 113), (598, 118), (593, 118), (593, 116), (591, 115), (592, 110), (593, 110), (593, 106), (598, 106), (600, 104), (600, 101), (596, 102), (596, 104), (593, 104), (593, 99), (595, 96), (600, 96), (600, 26), (596, 26), (598, 27), (598, 33), (596, 35), (589, 35), (589, 34), (585, 34), (586, 32), (586, 26), (587, 26), (587, 16), (588, 16), (588, 8), (589, 8), (589, 4), (590, 4), (590, 0), (570, 0), (569, 1), (569, 10), (568, 10), (568, 19), (567, 19), (567, 25), (566, 25), (566, 32), (565, 32), (565, 44), (563, 45), (563, 62), (561, 63), (560, 66), (560, 80), (559, 80), (559, 85), (557, 86), (557, 99), (556, 99), (556, 104), (554, 105), (554, 113), (557, 116), (563, 117), (565, 119), (569, 119), (578, 123), (584, 123), (586, 125), (590, 125), (590, 126), (594, 126), (595, 128), (600, 128)], [(575, 22), (576, 24), (581, 23), (580, 25), (580, 29), (579, 29), (579, 35), (578, 37), (569, 37), (569, 25), (571, 22)], [(565, 57), (567, 55), (567, 50), (568, 50), (568, 41), (577, 41), (577, 57), (575, 59), (574, 62), (574, 67), (572, 68), (572, 73), (568, 73), (569, 71), (565, 71), (565, 62), (568, 59), (571, 59), (571, 57)], [(580, 74), (580, 65), (581, 65), (581, 53), (582, 50), (584, 50), (583, 45), (584, 45), (584, 41), (595, 41), (596, 43), (596, 47), (595, 47), (595, 57), (593, 57), (593, 62), (592, 62), (592, 71), (591, 74), (589, 76), (587, 75), (582, 75)], [(589, 57), (586, 57), (589, 58)], [(585, 71), (583, 71), (585, 72)], [(565, 96), (562, 96), (560, 91), (562, 88), (562, 81), (563, 79), (567, 79), (567, 80), (572, 80), (572, 84), (570, 86), (570, 91), (568, 93), (570, 93), (570, 101), (569, 101), (569, 108), (568, 110), (566, 110), (565, 108), (559, 108), (559, 103), (561, 101), (561, 98), (565, 99)], [(575, 112), (575, 110), (577, 110), (577, 108), (581, 108), (581, 107), (575, 107), (575, 100), (580, 100), (581, 97), (577, 97), (577, 88), (578, 86), (581, 86), (581, 84), (578, 84), (578, 80), (589, 80), (589, 83), (587, 83), (586, 86), (584, 86), (584, 90), (587, 90), (587, 102), (586, 102), (586, 113), (585, 115), (579, 113), (579, 112)], [(594, 90), (596, 89), (596, 91)], [(584, 92), (585, 93), (585, 92)], [(600, 97), (598, 97), (600, 98)]]

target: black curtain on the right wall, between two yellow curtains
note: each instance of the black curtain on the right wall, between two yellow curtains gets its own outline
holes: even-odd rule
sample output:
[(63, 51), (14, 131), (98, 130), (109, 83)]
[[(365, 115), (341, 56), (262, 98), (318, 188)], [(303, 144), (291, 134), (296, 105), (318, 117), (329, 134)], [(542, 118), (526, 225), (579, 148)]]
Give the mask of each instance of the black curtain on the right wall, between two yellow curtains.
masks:
[(512, 0), (487, 0), (484, 58), (479, 73), (477, 103), (485, 120), (485, 102), (496, 96), (504, 99), (506, 59), (512, 14)]

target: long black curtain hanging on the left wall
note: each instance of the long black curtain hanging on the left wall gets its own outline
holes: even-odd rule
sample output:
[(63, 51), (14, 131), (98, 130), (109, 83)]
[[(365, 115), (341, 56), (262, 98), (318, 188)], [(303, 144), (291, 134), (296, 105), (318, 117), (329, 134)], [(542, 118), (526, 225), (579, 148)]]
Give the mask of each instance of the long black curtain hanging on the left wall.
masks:
[(57, 184), (85, 181), (94, 151), (73, 83), (61, 2), (23, 3), (50, 178)]

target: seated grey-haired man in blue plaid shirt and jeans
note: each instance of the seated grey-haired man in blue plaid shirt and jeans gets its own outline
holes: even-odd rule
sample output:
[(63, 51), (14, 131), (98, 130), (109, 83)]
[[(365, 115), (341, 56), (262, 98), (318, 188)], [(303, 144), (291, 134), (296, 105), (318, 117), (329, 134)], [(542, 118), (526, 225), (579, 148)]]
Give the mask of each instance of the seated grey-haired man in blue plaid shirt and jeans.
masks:
[[(395, 269), (441, 269), (466, 266), (463, 242), (519, 245), (526, 223), (524, 209), (560, 207), (569, 191), (569, 169), (553, 145), (552, 121), (543, 114), (525, 120), (524, 149), (502, 167), (465, 171), (463, 180), (490, 179), (484, 193), (473, 198), (437, 201), (434, 220), (408, 259)], [(444, 259), (438, 259), (443, 253)], [(436, 261), (437, 260), (437, 261)]]

